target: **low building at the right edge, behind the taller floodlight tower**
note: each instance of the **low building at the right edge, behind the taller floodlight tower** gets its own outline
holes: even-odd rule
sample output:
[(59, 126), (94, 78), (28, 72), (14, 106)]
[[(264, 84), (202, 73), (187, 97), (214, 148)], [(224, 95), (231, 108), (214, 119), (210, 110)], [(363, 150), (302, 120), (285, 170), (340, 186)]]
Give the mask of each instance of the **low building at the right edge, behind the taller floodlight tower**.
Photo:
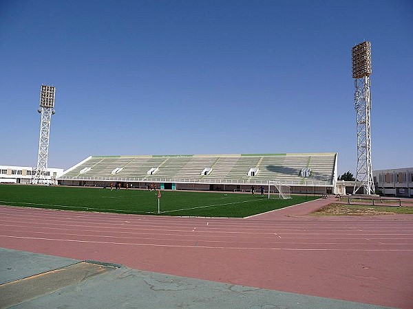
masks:
[(413, 197), (413, 168), (374, 170), (374, 185), (382, 194)]

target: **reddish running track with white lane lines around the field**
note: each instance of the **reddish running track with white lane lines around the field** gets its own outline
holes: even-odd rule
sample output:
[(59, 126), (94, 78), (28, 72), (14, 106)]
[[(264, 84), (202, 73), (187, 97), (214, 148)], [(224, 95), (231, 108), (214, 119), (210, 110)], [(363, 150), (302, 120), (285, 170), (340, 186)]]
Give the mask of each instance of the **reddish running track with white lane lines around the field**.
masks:
[(413, 308), (413, 218), (306, 215), (330, 202), (247, 219), (0, 206), (0, 247)]

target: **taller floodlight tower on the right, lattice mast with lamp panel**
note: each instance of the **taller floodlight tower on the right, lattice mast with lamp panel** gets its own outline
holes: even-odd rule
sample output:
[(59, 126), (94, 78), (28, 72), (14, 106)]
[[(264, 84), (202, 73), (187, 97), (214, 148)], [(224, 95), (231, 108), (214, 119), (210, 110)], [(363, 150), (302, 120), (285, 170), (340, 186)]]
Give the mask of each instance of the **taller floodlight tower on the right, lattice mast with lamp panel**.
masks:
[(370, 135), (370, 74), (372, 49), (370, 42), (352, 47), (352, 78), (354, 78), (354, 108), (357, 113), (357, 173), (353, 194), (361, 187), (366, 194), (374, 194)]

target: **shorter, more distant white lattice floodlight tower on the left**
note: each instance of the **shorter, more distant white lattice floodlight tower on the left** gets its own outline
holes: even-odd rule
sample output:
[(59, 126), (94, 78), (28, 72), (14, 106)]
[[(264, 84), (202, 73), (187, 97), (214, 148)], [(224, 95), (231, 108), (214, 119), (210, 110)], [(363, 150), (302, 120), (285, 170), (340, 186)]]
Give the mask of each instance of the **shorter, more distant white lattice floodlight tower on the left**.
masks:
[(37, 110), (41, 114), (40, 138), (39, 138), (39, 156), (37, 157), (37, 168), (32, 183), (49, 183), (47, 179), (47, 152), (49, 152), (49, 135), (50, 120), (54, 111), (54, 93), (56, 89), (53, 86), (41, 85), (40, 107)]

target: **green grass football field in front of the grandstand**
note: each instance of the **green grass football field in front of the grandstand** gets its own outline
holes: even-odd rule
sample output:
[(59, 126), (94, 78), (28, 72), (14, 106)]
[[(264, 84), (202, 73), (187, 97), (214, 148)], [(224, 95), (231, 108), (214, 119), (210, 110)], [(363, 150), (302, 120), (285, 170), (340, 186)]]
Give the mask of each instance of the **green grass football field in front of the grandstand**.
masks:
[[(283, 200), (260, 194), (161, 191), (160, 215), (243, 218), (317, 196), (292, 196)], [(109, 190), (91, 187), (0, 185), (0, 205), (158, 215), (158, 192)]]

